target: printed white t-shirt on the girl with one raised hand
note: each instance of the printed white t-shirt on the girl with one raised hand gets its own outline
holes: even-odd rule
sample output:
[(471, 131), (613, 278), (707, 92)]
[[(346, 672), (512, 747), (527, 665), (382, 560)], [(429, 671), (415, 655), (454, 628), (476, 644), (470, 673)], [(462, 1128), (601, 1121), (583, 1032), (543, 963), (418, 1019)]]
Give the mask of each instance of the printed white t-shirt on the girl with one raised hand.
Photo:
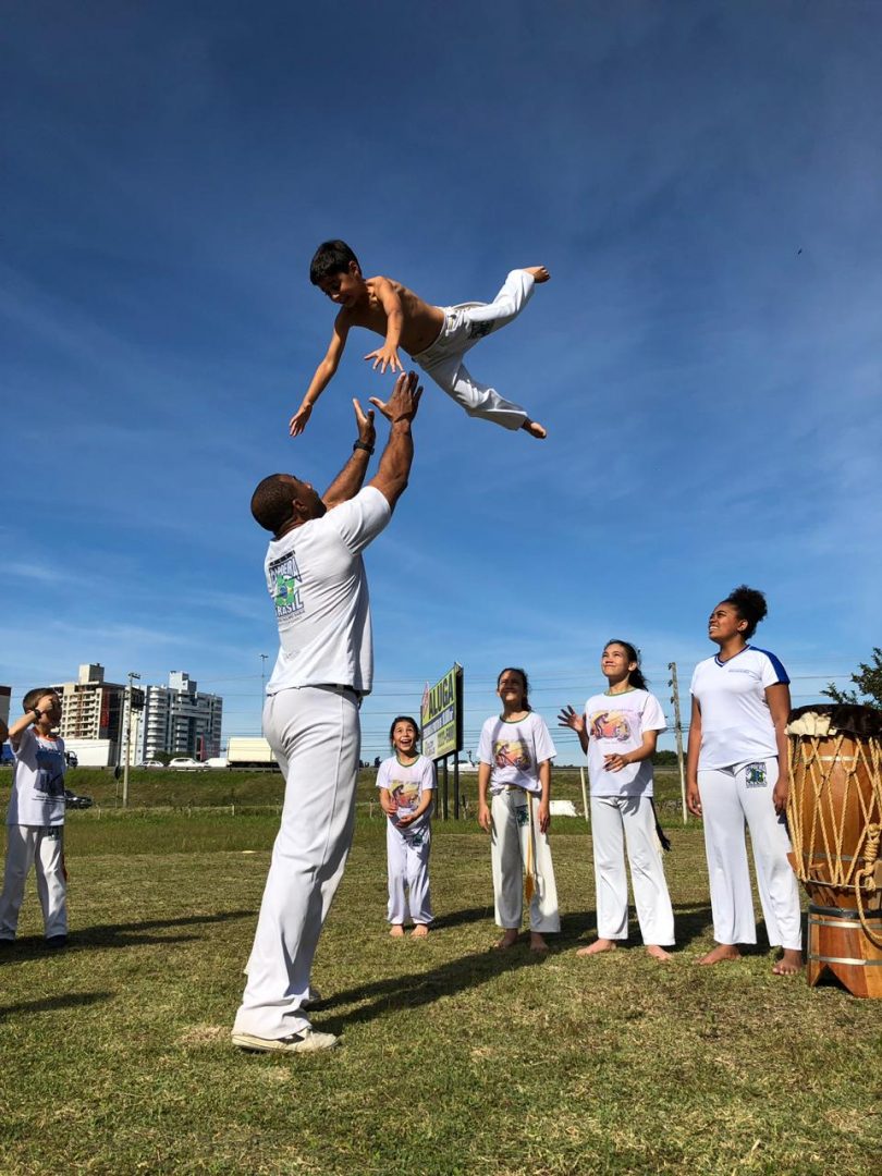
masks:
[(661, 703), (648, 690), (594, 694), (584, 704), (588, 733), (588, 775), (592, 796), (652, 796), (653, 764), (649, 760), (607, 771), (604, 756), (627, 755), (643, 746), (644, 731), (667, 727)]

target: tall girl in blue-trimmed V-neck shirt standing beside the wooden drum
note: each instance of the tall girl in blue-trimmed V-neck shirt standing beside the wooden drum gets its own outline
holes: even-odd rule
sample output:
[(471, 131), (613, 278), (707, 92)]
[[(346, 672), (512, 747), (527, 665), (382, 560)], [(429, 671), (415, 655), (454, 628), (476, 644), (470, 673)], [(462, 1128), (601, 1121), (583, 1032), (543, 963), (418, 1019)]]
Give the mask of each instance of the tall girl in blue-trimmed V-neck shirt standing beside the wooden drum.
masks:
[(739, 960), (739, 943), (756, 943), (747, 821), (769, 943), (782, 948), (771, 970), (787, 976), (802, 967), (800, 890), (784, 823), (790, 679), (774, 654), (748, 644), (766, 612), (763, 594), (741, 584), (710, 614), (708, 636), (720, 653), (699, 662), (689, 687), (686, 800), (704, 821), (717, 942), (700, 962)]

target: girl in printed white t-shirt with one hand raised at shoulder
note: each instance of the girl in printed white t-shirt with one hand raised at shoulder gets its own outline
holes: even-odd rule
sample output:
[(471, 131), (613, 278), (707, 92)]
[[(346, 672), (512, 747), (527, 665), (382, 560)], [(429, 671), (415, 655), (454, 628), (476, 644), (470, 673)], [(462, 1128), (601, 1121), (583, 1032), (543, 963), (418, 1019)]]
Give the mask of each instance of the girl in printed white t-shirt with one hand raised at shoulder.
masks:
[(627, 641), (608, 641), (600, 668), (609, 683), (579, 715), (564, 707), (561, 727), (579, 735), (592, 782), (592, 840), (597, 902), (597, 938), (577, 955), (612, 951), (628, 938), (628, 875), (647, 953), (670, 960), (674, 911), (661, 861), (653, 807), (652, 756), (666, 722), (661, 704), (647, 690), (637, 650)]

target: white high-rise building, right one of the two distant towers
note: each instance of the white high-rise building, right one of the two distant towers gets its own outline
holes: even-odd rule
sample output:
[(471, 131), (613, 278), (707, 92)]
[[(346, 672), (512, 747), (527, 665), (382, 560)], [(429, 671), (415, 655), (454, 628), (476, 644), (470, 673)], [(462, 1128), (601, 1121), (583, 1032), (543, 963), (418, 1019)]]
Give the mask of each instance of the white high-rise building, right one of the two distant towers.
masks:
[(180, 670), (168, 675), (168, 686), (143, 688), (145, 708), (138, 722), (138, 759), (152, 760), (156, 751), (207, 760), (220, 755), (223, 699), (203, 694)]

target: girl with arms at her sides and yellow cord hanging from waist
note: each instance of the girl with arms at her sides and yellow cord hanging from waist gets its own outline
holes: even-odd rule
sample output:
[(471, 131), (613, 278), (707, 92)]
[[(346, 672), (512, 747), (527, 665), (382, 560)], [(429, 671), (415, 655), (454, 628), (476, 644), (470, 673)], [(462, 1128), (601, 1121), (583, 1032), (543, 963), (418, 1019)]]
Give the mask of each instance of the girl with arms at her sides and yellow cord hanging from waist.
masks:
[[(530, 709), (527, 674), (503, 669), (496, 680), (502, 714), (481, 730), (477, 756), (477, 821), (490, 835), (493, 895), (501, 950), (517, 942), (523, 917), (523, 871), (530, 898), (530, 948), (547, 951), (546, 934), (560, 931), (557, 889), (548, 844), (552, 760), (548, 727)], [(487, 802), (487, 794), (490, 802)]]

